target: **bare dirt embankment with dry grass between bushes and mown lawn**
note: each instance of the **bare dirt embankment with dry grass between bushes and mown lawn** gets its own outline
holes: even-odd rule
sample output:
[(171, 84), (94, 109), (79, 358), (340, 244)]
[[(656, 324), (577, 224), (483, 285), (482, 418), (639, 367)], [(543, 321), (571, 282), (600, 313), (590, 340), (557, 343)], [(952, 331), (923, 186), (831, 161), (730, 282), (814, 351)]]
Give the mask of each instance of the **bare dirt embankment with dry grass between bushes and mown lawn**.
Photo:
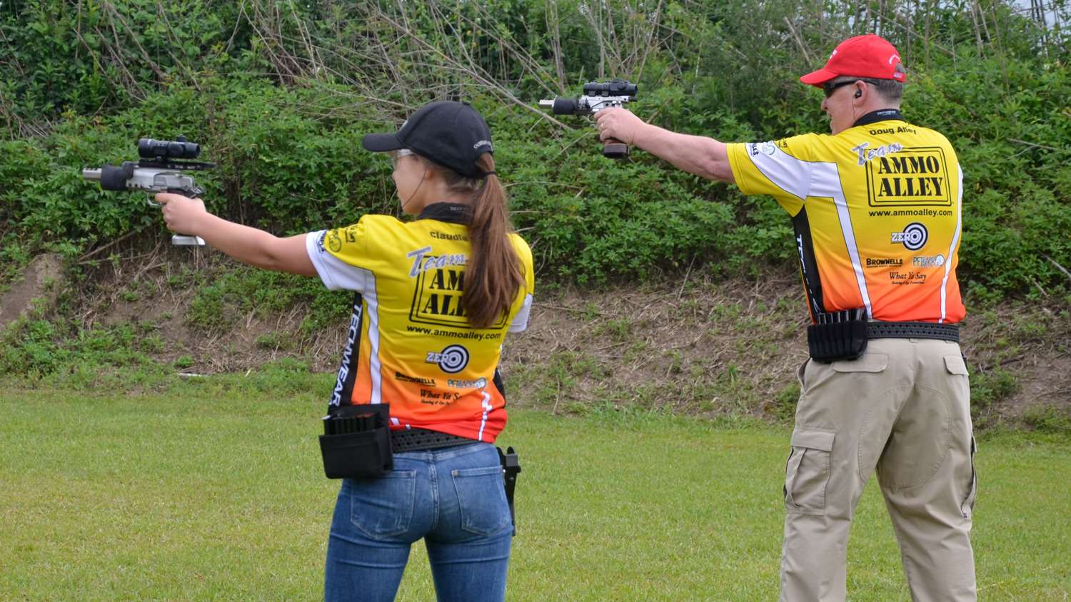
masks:
[[(75, 303), (77, 323), (149, 324), (148, 336), (161, 341), (154, 358), (176, 371), (246, 371), (282, 357), (316, 371), (337, 367), (342, 314), (336, 327), (314, 333), (301, 326), (310, 311), (301, 306), (230, 315), (221, 321), (226, 327), (206, 329), (190, 319), (197, 291), (175, 285), (188, 273), (180, 260), (102, 272)], [(512, 403), (556, 412), (659, 407), (788, 418), (798, 395), (795, 371), (806, 358), (805, 324), (799, 279), (787, 269), (750, 281), (690, 274), (585, 290), (540, 284), (530, 328), (507, 341), (502, 371)], [(995, 423), (1049, 405), (1071, 410), (1067, 307), (972, 309), (963, 340), (977, 419)]]

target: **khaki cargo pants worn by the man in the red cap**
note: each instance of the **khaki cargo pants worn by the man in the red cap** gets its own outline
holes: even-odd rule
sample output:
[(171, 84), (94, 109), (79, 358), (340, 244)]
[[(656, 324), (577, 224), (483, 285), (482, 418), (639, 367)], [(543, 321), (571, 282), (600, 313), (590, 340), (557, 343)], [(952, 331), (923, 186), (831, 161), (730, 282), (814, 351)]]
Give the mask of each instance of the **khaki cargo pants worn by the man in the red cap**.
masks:
[(808, 361), (785, 468), (781, 600), (843, 601), (856, 504), (877, 470), (916, 602), (976, 600), (975, 443), (960, 345), (873, 339)]

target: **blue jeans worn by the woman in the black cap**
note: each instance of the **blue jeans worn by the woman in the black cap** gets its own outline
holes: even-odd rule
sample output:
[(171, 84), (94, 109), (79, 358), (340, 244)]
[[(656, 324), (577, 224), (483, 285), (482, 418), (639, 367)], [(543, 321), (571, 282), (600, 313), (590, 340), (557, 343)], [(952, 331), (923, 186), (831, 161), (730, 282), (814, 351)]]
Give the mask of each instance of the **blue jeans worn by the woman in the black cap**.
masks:
[(424, 538), (440, 602), (501, 602), (513, 525), (495, 447), (394, 454), (377, 479), (344, 479), (328, 541), (325, 600), (393, 600)]

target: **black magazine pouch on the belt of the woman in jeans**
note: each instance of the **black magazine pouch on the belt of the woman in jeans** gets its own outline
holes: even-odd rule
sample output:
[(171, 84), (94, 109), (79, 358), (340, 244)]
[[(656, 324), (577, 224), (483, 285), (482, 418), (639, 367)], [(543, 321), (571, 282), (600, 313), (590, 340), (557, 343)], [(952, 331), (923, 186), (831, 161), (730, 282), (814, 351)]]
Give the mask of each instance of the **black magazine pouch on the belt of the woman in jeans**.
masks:
[(390, 404), (343, 405), (323, 417), (320, 435), (329, 479), (381, 477), (394, 466)]

